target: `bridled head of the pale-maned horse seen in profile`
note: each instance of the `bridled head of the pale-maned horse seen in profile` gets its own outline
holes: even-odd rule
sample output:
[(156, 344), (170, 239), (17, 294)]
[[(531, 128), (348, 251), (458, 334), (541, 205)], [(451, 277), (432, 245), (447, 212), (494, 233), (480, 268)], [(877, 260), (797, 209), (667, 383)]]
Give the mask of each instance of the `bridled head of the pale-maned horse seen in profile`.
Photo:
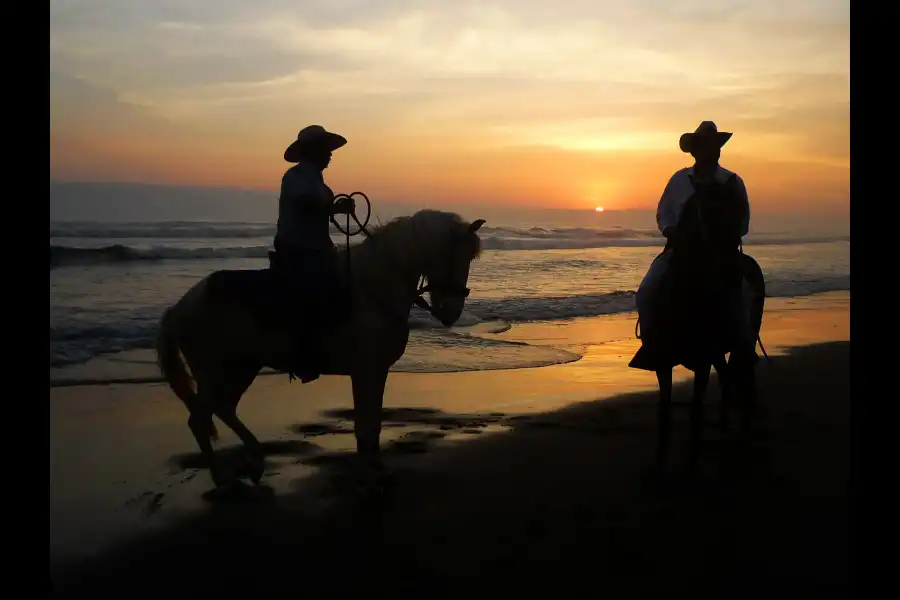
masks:
[(422, 274), (428, 281), (423, 290), (431, 298), (429, 311), (450, 327), (459, 320), (469, 296), (469, 267), (481, 253), (478, 230), (484, 220), (467, 223), (438, 211), (421, 211), (414, 218), (422, 243)]

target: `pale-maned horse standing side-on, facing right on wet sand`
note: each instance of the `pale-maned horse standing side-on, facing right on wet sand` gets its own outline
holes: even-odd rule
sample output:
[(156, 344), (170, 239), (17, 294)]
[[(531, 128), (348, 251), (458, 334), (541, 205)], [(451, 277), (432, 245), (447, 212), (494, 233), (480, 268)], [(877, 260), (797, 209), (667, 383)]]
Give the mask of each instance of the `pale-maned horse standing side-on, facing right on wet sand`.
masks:
[[(357, 456), (370, 475), (381, 469), (384, 387), (389, 369), (406, 350), (410, 309), (416, 303), (447, 327), (459, 319), (469, 295), (469, 266), (481, 252), (477, 231), (483, 224), (422, 210), (373, 229), (361, 244), (337, 253), (351, 307), (323, 335), (321, 372), (352, 380)], [(426, 279), (428, 285), (420, 287)], [(212, 450), (218, 437), (213, 415), (247, 448), (251, 479), (259, 482), (264, 471), (262, 446), (238, 418), (237, 404), (263, 367), (289, 370), (290, 339), (272, 317), (279, 293), (269, 270), (216, 271), (168, 308), (160, 322), (159, 368), (190, 413), (188, 426), (217, 487), (236, 476), (225, 472)]]

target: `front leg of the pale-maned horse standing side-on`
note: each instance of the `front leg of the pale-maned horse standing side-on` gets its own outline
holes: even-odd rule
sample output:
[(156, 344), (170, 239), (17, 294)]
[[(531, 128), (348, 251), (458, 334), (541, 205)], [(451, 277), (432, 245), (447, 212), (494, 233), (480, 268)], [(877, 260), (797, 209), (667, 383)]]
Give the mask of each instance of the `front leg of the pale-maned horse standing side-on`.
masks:
[(365, 366), (350, 376), (353, 384), (353, 426), (356, 454), (364, 474), (380, 475), (381, 407), (388, 369)]

